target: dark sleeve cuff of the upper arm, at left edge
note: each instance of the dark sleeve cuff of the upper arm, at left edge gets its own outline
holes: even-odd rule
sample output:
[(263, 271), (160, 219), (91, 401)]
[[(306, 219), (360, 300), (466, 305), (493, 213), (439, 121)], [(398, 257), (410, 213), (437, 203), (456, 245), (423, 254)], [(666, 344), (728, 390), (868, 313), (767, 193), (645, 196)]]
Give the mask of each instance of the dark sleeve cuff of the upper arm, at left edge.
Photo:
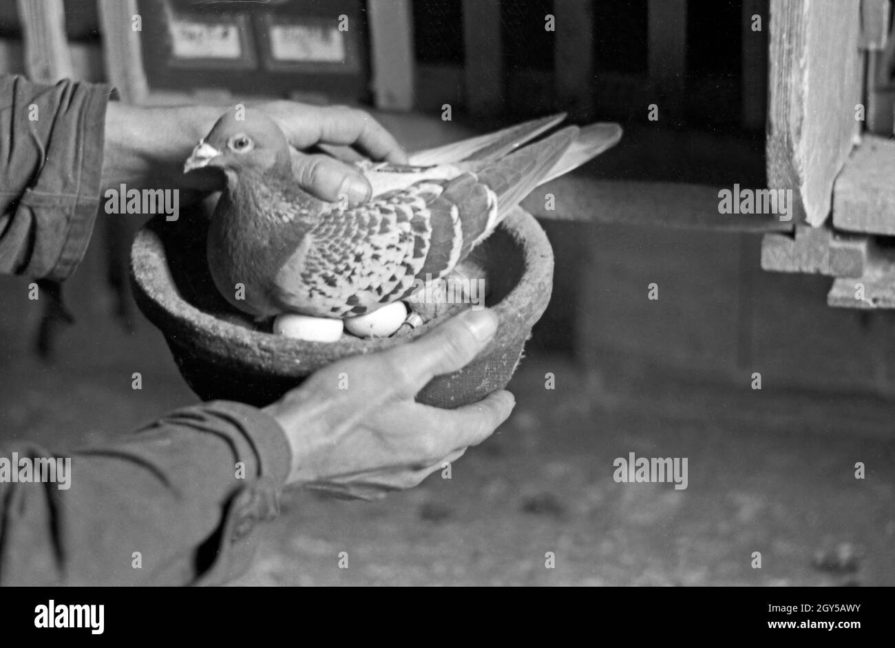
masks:
[(97, 215), (107, 85), (0, 76), (0, 272), (63, 280)]

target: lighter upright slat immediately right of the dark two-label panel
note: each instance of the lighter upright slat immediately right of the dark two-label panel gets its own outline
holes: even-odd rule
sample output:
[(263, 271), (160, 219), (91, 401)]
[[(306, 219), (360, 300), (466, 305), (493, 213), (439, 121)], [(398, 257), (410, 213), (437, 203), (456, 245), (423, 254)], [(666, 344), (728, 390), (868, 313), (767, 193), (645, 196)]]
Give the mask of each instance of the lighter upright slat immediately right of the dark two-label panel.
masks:
[(382, 110), (413, 108), (413, 24), (409, 0), (367, 0), (373, 97)]

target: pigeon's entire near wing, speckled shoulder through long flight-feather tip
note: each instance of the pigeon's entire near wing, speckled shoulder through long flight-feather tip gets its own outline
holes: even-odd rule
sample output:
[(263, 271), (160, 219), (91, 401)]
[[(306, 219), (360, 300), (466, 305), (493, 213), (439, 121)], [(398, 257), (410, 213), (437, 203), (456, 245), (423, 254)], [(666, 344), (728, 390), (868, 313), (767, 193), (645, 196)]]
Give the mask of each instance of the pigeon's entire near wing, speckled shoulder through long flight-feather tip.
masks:
[[(574, 126), (499, 160), (433, 167), (352, 209), (332, 207), (277, 275), (285, 310), (320, 317), (372, 311), (444, 277), (568, 149)], [(392, 173), (400, 173), (395, 167)]]

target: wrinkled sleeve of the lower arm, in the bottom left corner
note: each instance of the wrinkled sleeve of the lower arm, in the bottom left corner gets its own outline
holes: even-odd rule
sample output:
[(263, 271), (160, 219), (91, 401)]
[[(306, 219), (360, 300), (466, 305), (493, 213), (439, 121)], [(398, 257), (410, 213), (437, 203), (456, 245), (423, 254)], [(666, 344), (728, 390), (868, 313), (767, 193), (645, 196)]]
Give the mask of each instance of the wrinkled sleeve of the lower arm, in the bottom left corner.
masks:
[[(290, 456), (273, 418), (226, 401), (102, 448), (2, 447), (0, 584), (224, 583), (277, 516)], [(46, 459), (55, 482), (34, 479)]]

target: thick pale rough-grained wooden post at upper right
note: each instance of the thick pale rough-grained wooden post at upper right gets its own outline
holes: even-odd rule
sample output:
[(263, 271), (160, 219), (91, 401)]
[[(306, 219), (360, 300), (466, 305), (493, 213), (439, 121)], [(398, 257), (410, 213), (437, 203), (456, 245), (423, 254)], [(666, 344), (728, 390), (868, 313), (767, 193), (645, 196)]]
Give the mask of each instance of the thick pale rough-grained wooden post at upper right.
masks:
[(857, 140), (859, 0), (771, 0), (767, 175), (792, 189), (797, 220), (818, 226)]

